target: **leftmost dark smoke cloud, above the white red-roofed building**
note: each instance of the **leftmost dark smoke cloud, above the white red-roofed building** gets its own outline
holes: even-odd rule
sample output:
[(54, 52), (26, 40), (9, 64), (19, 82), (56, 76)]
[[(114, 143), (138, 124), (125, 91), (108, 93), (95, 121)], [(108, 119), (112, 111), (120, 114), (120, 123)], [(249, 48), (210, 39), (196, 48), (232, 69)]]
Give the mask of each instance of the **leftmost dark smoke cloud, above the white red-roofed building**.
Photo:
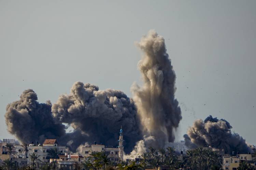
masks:
[(65, 135), (65, 126), (53, 120), (51, 107), (49, 101), (38, 103), (37, 94), (33, 90), (25, 90), (20, 100), (6, 106), (5, 122), (8, 131), (27, 143)]

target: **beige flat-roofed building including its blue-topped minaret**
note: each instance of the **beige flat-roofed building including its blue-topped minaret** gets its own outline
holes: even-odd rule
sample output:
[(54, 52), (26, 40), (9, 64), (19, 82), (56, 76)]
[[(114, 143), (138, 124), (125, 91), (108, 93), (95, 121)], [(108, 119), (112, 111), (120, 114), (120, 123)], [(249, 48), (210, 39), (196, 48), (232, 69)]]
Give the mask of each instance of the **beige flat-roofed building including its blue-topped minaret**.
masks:
[(119, 162), (124, 160), (124, 140), (123, 140), (123, 129), (120, 129), (119, 136), (119, 146), (118, 148), (107, 147), (105, 145), (97, 145), (95, 142), (94, 145), (83, 147), (84, 157), (89, 157), (92, 152), (105, 152), (108, 155), (110, 161)]

